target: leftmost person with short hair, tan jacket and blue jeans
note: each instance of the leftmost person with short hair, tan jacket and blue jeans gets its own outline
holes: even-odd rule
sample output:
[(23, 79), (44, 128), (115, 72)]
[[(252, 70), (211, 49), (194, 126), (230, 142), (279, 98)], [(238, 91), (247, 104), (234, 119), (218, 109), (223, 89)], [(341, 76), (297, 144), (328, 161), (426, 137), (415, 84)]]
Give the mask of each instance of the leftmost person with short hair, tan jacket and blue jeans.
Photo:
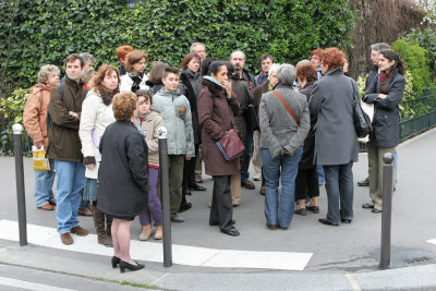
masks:
[[(47, 105), (50, 101), (51, 88), (59, 85), (59, 69), (53, 64), (43, 65), (38, 73), (38, 83), (32, 87), (24, 107), (23, 123), (34, 145), (47, 149)], [(35, 171), (36, 207), (53, 210), (56, 199), (52, 191), (55, 181), (53, 160), (49, 159), (50, 170)]]

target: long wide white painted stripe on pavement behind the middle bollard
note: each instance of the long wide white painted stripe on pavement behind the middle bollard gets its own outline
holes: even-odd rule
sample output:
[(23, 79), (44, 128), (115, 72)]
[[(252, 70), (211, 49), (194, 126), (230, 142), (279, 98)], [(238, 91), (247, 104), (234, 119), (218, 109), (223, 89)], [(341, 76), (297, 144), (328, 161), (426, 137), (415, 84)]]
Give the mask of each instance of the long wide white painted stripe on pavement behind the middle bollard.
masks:
[[(55, 228), (27, 223), (28, 243), (80, 253), (104, 256), (113, 255), (112, 248), (96, 243), (96, 234), (74, 235), (73, 238), (74, 244), (64, 245)], [(17, 221), (1, 219), (0, 239), (20, 241)], [(132, 240), (130, 250), (132, 257), (135, 259), (155, 263), (164, 262), (161, 243)], [(254, 252), (172, 245), (172, 262), (174, 264), (198, 267), (303, 270), (311, 257), (312, 253)]]

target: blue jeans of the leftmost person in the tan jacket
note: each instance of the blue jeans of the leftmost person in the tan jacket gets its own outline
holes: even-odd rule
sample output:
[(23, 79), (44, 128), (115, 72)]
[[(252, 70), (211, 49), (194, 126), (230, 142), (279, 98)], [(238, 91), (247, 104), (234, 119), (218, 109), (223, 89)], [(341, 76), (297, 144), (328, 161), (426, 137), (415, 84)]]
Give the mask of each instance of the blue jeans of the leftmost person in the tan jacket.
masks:
[(35, 171), (35, 202), (36, 207), (41, 207), (50, 201), (55, 199), (53, 181), (55, 181), (55, 160), (49, 159), (50, 170)]

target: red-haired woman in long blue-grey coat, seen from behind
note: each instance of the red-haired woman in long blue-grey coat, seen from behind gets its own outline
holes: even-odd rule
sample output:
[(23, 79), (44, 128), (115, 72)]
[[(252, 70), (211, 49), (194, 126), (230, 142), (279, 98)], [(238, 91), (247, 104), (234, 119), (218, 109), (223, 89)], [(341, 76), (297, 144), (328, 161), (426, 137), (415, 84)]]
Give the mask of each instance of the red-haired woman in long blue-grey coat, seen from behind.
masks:
[(328, 197), (328, 226), (351, 223), (353, 219), (353, 162), (359, 159), (353, 122), (354, 80), (343, 75), (346, 56), (338, 48), (322, 52), (323, 78), (315, 83), (308, 107), (318, 112), (315, 132), (316, 163), (323, 165)]

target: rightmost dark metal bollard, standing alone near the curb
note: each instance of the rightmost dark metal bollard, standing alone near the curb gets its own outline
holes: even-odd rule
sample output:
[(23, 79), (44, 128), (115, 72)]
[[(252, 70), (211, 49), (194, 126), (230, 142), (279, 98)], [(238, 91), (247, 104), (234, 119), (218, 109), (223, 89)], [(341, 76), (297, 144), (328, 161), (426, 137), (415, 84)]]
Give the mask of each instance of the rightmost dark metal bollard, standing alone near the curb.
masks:
[(383, 211), (382, 211), (382, 245), (380, 268), (390, 265), (390, 225), (392, 214), (392, 185), (393, 185), (393, 155), (390, 153), (383, 156)]

